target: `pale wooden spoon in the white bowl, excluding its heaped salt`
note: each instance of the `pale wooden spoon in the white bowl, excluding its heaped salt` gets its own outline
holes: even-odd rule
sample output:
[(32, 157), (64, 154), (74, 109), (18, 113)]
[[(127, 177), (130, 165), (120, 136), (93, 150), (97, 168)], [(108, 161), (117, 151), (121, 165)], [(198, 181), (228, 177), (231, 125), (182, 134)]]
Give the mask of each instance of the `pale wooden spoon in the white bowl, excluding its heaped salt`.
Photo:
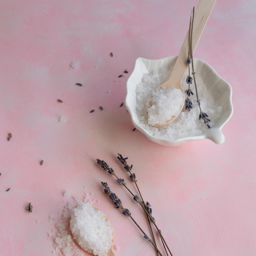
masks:
[[(200, 37), (202, 35), (202, 32), (211, 14), (211, 10), (213, 9), (215, 2), (216, 0), (200, 0), (198, 4), (198, 7), (194, 14), (194, 20), (193, 20), (192, 53), (195, 51), (195, 48), (200, 40)], [(173, 71), (171, 72), (170, 78), (168, 79), (168, 81), (166, 81), (156, 89), (156, 90), (159, 90), (162, 87), (166, 87), (166, 88), (175, 87), (177, 89), (180, 89), (183, 93), (183, 103), (180, 106), (180, 112), (182, 111), (182, 108), (184, 106), (184, 101), (185, 101), (185, 94), (184, 94), (181, 82), (188, 67), (188, 64), (186, 63), (188, 52), (189, 52), (189, 31), (186, 34), (185, 40), (180, 49), (180, 53), (173, 67)], [(147, 113), (148, 113), (148, 108), (152, 106), (150, 98), (152, 98), (152, 94), (149, 97), (148, 103), (146, 106)], [(166, 126), (167, 124), (175, 120), (177, 116), (178, 115), (170, 117), (171, 119), (166, 121), (165, 124), (161, 124), (161, 125), (154, 124), (153, 126), (155, 127)]]

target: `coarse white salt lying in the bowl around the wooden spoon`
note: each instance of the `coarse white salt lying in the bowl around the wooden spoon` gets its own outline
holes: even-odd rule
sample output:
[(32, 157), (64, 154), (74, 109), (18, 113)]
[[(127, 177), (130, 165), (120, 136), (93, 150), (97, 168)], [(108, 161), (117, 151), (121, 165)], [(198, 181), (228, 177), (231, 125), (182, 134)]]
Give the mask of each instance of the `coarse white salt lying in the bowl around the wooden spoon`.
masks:
[[(191, 90), (194, 95), (190, 97), (193, 108), (190, 111), (182, 109), (180, 115), (170, 124), (163, 127), (154, 127), (148, 123), (148, 117), (146, 112), (146, 104), (148, 98), (155, 91), (155, 89), (167, 81), (171, 75), (172, 67), (162, 67), (160, 70), (144, 74), (141, 82), (136, 88), (136, 112), (139, 122), (143, 128), (145, 128), (151, 135), (166, 139), (181, 139), (184, 137), (200, 136), (205, 129), (208, 129), (206, 124), (202, 120), (199, 120), (200, 110), (198, 107), (195, 87), (192, 84)], [(202, 81), (200, 76), (196, 74), (196, 84), (198, 88), (198, 95), (200, 98), (200, 106), (203, 112), (209, 115), (211, 119), (211, 126), (214, 126), (215, 120), (221, 115), (222, 107), (219, 106), (218, 101), (213, 99), (213, 96), (209, 90), (207, 90), (206, 84)], [(186, 75), (182, 80), (182, 87), (185, 91), (188, 89), (186, 83)], [(186, 95), (185, 95), (186, 98)]]

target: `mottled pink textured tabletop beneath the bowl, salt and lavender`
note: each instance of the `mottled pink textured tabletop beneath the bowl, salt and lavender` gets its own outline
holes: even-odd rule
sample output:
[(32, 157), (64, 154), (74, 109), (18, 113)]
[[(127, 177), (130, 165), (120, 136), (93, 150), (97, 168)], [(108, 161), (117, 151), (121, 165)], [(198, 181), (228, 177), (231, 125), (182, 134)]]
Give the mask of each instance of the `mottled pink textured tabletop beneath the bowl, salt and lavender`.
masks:
[(134, 165), (174, 256), (256, 255), (255, 0), (217, 0), (194, 55), (233, 88), (223, 145), (157, 145), (132, 131), (119, 107), (135, 59), (177, 55), (197, 4), (1, 1), (1, 256), (62, 255), (54, 248), (55, 225), (72, 197), (85, 193), (110, 219), (117, 256), (155, 255), (102, 191), (100, 182), (108, 182), (140, 220), (135, 203), (96, 163), (106, 160), (127, 179), (117, 153)]

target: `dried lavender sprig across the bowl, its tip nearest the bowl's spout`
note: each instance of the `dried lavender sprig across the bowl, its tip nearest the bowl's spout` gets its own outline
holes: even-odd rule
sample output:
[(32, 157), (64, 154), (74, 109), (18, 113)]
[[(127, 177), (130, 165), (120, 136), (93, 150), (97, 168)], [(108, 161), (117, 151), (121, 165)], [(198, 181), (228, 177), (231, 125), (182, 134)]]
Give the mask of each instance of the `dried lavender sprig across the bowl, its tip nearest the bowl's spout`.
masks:
[(203, 120), (204, 121), (204, 124), (207, 125), (207, 127), (210, 129), (211, 126), (209, 125), (209, 122), (211, 121), (209, 118), (208, 118), (208, 115), (206, 113), (204, 113), (201, 109), (201, 106), (200, 106), (200, 99), (198, 97), (198, 89), (197, 89), (197, 85), (196, 85), (196, 81), (195, 81), (195, 71), (194, 71), (194, 62), (193, 62), (193, 52), (192, 52), (192, 35), (193, 35), (193, 22), (194, 22), (194, 13), (195, 13), (195, 7), (193, 7), (193, 18), (192, 18), (192, 22), (190, 22), (190, 25), (189, 25), (189, 30), (190, 30), (190, 27), (191, 27), (191, 38), (190, 38), (190, 43), (189, 43), (189, 49), (190, 49), (190, 54), (191, 54), (191, 65), (192, 65), (192, 75), (193, 75), (193, 78), (194, 78), (194, 84), (195, 84), (195, 93), (196, 93), (196, 98), (197, 98), (197, 103), (198, 103), (198, 106), (199, 106), (199, 109), (200, 109), (200, 114), (199, 114), (199, 120)]

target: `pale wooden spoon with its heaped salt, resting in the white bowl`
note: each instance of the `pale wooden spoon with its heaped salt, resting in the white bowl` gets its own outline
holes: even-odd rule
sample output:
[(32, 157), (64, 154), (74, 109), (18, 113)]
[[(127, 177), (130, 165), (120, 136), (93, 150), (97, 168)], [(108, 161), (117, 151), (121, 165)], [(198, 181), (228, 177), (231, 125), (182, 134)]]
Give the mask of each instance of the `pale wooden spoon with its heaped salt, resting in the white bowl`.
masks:
[[(200, 0), (198, 4), (193, 20), (192, 54), (200, 40), (215, 2), (216, 0)], [(186, 63), (188, 52), (189, 31), (186, 34), (170, 78), (150, 95), (146, 104), (148, 123), (152, 126), (166, 126), (174, 121), (182, 111), (185, 94), (181, 82), (188, 67)], [(169, 109), (166, 109), (168, 107)]]

